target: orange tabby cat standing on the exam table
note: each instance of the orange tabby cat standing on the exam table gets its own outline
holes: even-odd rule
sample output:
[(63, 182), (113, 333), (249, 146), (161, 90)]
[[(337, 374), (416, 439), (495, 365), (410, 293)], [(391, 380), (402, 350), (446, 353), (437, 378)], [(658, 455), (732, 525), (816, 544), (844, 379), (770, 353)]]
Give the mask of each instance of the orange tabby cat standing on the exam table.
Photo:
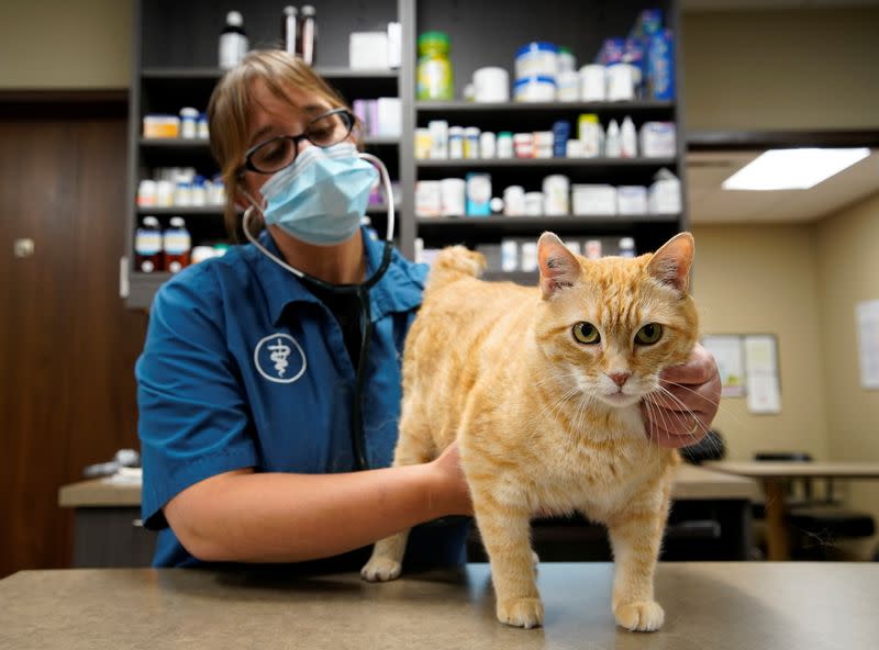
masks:
[[(544, 233), (537, 289), (478, 280), (485, 258), (460, 246), (437, 257), (405, 344), (394, 464), (457, 437), (502, 623), (543, 621), (531, 517), (579, 511), (608, 527), (617, 624), (663, 625), (653, 576), (679, 458), (648, 441), (638, 403), (697, 340), (692, 258), (689, 233), (599, 260)], [(379, 540), (363, 576), (397, 578), (407, 536)]]

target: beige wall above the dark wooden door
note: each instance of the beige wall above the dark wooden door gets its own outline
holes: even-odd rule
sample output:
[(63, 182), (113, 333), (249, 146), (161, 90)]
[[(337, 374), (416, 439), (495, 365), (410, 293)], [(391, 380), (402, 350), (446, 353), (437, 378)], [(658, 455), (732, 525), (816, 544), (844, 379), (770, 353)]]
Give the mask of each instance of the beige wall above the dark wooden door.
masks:
[(133, 0), (7, 0), (0, 89), (126, 88)]

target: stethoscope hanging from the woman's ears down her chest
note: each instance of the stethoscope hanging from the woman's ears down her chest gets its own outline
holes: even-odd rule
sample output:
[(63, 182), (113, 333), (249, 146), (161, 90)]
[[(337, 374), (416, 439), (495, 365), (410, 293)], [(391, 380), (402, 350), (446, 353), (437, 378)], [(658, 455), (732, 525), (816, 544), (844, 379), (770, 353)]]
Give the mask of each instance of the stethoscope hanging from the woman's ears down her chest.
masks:
[(366, 362), (369, 357), (369, 343), (372, 337), (372, 320), (370, 317), (370, 310), (369, 310), (369, 290), (378, 284), (378, 281), (385, 276), (385, 272), (388, 270), (388, 267), (391, 264), (391, 255), (393, 253), (393, 217), (394, 217), (394, 209), (393, 209), (393, 190), (391, 189), (391, 181), (390, 176), (388, 175), (388, 169), (385, 167), (385, 164), (378, 159), (376, 156), (371, 154), (365, 154), (363, 152), (359, 153), (361, 158), (366, 158), (367, 160), (375, 164), (379, 169), (379, 175), (381, 176), (382, 184), (385, 186), (385, 195), (388, 202), (388, 229), (385, 235), (385, 249), (381, 253), (381, 264), (379, 265), (376, 272), (372, 273), (370, 278), (368, 278), (361, 284), (331, 284), (330, 282), (324, 282), (320, 278), (315, 278), (313, 276), (309, 276), (300, 271), (299, 269), (291, 267), (287, 264), (283, 259), (268, 250), (265, 246), (263, 246), (259, 240), (254, 237), (251, 233), (251, 228), (248, 227), (248, 220), (253, 214), (254, 209), (256, 209), (255, 201), (252, 200), (252, 205), (244, 211), (243, 217), (243, 229), (244, 236), (256, 246), (256, 248), (263, 253), (266, 257), (271, 259), (275, 264), (280, 266), (283, 269), (290, 271), (293, 276), (299, 278), (300, 280), (311, 283), (315, 287), (320, 287), (321, 289), (325, 289), (326, 291), (331, 291), (333, 293), (354, 293), (357, 295), (357, 300), (360, 303), (360, 328), (363, 330), (363, 339), (360, 341), (360, 358), (357, 361), (357, 374), (354, 383), (354, 404), (352, 406), (352, 428), (351, 428), (351, 444), (352, 449), (354, 450), (354, 461), (357, 466), (358, 470), (368, 470), (369, 469), (369, 461), (366, 458), (366, 435), (364, 432), (364, 414), (363, 414), (363, 391), (364, 391), (364, 381), (366, 380)]

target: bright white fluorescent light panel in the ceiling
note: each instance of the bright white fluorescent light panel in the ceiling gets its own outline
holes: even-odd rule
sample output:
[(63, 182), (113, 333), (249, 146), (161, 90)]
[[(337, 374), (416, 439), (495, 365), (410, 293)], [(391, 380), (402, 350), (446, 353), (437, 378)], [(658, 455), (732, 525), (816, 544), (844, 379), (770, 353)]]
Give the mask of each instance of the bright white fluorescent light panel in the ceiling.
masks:
[(808, 190), (870, 155), (848, 149), (769, 149), (723, 181), (724, 190)]

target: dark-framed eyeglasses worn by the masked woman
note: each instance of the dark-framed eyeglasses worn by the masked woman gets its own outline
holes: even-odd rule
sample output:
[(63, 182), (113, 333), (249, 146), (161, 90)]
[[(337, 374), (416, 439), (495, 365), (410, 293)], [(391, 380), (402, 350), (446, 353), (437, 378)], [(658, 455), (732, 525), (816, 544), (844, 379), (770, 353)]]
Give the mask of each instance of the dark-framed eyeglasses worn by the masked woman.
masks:
[(333, 109), (305, 124), (299, 135), (281, 135), (254, 145), (244, 155), (244, 169), (275, 173), (296, 161), (303, 139), (324, 148), (341, 143), (354, 128), (354, 115), (347, 109)]

